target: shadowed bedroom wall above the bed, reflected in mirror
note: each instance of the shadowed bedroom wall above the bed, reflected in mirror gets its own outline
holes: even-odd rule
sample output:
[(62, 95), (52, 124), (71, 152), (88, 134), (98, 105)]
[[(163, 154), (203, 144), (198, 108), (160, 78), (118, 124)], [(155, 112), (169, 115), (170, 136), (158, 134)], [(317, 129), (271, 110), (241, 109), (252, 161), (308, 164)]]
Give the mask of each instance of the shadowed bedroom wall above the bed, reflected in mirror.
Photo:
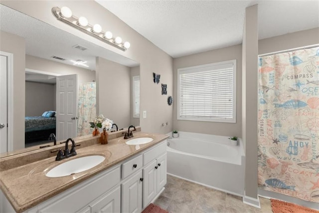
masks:
[(54, 84), (25, 82), (25, 116), (41, 116), (45, 111), (55, 111)]

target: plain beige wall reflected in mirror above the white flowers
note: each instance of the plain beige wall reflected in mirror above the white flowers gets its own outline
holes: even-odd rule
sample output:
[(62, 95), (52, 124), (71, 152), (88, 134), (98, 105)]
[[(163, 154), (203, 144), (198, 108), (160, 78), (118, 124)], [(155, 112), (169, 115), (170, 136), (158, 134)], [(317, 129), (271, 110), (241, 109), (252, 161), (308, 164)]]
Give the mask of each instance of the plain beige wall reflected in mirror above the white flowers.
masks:
[(131, 68), (98, 57), (99, 114), (113, 120), (119, 129), (131, 124)]

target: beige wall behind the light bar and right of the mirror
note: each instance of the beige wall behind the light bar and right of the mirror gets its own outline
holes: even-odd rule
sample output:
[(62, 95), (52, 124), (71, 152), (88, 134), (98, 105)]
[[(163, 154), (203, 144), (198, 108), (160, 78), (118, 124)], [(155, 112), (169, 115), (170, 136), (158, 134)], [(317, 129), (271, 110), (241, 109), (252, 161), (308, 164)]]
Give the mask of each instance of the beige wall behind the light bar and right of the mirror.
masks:
[[(1, 0), (1, 3), (17, 9), (27, 15), (49, 23), (90, 42), (112, 50), (119, 55), (131, 58), (140, 63), (141, 77), (141, 112), (147, 111), (147, 118), (140, 119), (140, 125), (145, 132), (167, 133), (172, 131), (172, 106), (167, 105), (167, 96), (172, 95), (172, 58), (152, 42), (137, 33), (113, 13), (93, 0), (87, 1), (10, 1)], [(51, 14), (54, 6), (68, 6), (74, 15), (85, 14), (90, 23), (99, 23), (103, 29), (112, 29), (114, 35), (120, 35), (128, 40), (131, 47), (123, 52), (111, 45), (105, 44), (89, 35), (64, 24)], [(105, 21), (108, 20), (108, 21)], [(167, 95), (161, 95), (160, 84), (154, 84), (153, 72), (161, 74), (160, 83), (167, 84)], [(101, 81), (99, 74), (97, 82)], [(98, 91), (100, 93), (102, 91)], [(99, 95), (101, 96), (101, 95)], [(99, 106), (97, 107), (99, 108)], [(161, 123), (168, 125), (161, 127)]]

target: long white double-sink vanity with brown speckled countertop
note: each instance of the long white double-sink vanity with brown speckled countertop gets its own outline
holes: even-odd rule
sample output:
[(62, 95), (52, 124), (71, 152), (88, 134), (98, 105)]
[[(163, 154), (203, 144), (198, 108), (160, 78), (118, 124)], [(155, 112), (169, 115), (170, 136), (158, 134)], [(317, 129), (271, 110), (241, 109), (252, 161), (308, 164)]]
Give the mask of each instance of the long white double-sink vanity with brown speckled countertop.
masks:
[[(0, 212), (139, 213), (166, 184), (166, 138), (127, 130), (75, 140), (76, 156), (55, 161), (65, 144), (0, 158)], [(80, 146), (79, 146), (80, 145)]]

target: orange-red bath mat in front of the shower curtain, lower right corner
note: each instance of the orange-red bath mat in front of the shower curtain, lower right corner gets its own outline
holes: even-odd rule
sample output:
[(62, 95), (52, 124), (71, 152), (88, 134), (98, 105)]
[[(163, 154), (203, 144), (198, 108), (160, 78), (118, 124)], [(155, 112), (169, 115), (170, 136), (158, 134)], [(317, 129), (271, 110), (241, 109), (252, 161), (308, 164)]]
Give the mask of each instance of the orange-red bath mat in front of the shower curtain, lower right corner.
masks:
[(309, 209), (297, 204), (291, 204), (276, 199), (270, 200), (273, 213), (319, 213), (317, 210)]

